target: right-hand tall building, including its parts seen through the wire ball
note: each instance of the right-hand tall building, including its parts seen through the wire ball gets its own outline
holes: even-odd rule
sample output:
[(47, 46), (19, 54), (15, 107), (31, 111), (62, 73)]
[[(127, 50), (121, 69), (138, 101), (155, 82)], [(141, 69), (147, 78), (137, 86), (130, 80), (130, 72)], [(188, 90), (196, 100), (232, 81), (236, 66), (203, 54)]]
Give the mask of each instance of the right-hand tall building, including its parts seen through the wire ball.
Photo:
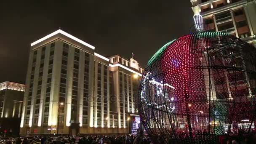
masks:
[[(256, 47), (256, 0), (191, 0), (191, 3), (192, 10), (195, 13), (195, 23), (197, 23), (197, 16), (200, 15), (203, 18), (202, 22), (205, 24), (205, 29), (234, 35)], [(206, 91), (207, 99), (209, 101), (211, 93), (211, 101), (216, 101), (214, 114), (219, 115), (216, 117), (216, 121), (220, 120), (218, 126), (225, 133), (228, 131), (228, 120), (231, 117), (237, 123), (232, 123), (230, 126), (236, 130), (243, 125), (244, 121), (254, 121), (246, 112), (250, 112), (253, 108), (251, 105), (253, 99), (251, 101), (249, 99), (255, 95), (256, 79), (253, 74), (241, 70), (255, 69), (253, 63), (248, 62), (248, 58), (254, 59), (254, 49), (243, 44), (242, 50), (240, 50), (239, 46), (230, 43), (230, 41), (223, 42), (221, 40), (212, 42), (211, 45), (214, 45), (216, 50), (217, 48), (222, 50), (209, 52), (209, 61), (212, 66), (235, 67), (240, 71), (216, 70), (209, 74), (207, 69), (204, 69), (203, 72), (204, 75), (211, 75), (212, 89)], [(229, 49), (226, 50), (224, 45)], [(244, 49), (247, 49), (247, 52), (251, 49), (251, 54), (246, 53)], [(202, 59), (202, 62), (206, 66), (208, 60)], [(236, 83), (239, 83), (239, 85), (236, 85)], [(205, 79), (205, 85), (210, 85), (207, 78)], [(240, 97), (240, 99), (235, 99), (236, 97)], [(233, 113), (243, 113), (243, 115), (237, 115), (236, 117), (230, 115), (231, 110), (228, 103), (222, 104), (221, 101), (238, 102), (239, 104), (236, 104), (236, 107), (239, 107), (239, 109), (235, 109)], [(251, 128), (254, 128), (254, 124), (255, 122), (251, 124)]]

